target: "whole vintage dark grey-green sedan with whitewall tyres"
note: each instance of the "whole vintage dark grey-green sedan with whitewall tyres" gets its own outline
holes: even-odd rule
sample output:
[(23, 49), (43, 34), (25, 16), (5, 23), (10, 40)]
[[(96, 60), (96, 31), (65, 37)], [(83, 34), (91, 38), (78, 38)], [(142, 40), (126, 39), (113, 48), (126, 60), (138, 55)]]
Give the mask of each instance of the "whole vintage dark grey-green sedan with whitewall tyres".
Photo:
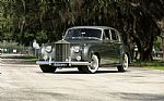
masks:
[(44, 73), (57, 67), (78, 67), (81, 73), (96, 73), (98, 67), (128, 70), (130, 55), (121, 33), (108, 26), (75, 26), (67, 29), (55, 43), (43, 43), (36, 63)]

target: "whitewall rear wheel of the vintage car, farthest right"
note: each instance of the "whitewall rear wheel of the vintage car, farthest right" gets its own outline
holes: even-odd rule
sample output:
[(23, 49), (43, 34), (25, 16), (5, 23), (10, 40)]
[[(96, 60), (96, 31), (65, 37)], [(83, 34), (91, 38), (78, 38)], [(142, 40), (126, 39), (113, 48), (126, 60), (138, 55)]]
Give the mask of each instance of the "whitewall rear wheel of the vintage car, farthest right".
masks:
[(128, 70), (129, 59), (128, 55), (125, 53), (121, 59), (121, 65), (117, 66), (118, 72), (126, 72)]

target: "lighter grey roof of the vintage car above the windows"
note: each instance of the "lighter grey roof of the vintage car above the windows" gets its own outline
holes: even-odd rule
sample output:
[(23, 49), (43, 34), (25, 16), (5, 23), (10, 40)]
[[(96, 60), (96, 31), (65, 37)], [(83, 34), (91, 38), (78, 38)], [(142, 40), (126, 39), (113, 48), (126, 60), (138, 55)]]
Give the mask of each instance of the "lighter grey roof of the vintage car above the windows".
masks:
[(108, 26), (74, 26), (74, 27), (70, 27), (69, 29), (73, 29), (73, 28), (95, 28), (95, 29), (108, 29), (113, 27), (108, 27)]

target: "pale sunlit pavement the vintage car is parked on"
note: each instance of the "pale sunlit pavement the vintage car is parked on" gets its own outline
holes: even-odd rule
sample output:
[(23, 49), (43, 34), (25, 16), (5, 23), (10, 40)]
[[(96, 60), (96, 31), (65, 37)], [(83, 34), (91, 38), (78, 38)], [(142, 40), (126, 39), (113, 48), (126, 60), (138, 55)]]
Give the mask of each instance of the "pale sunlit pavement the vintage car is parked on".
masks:
[(63, 68), (45, 74), (37, 65), (1, 63), (0, 73), (0, 101), (164, 101), (163, 71), (79, 74)]

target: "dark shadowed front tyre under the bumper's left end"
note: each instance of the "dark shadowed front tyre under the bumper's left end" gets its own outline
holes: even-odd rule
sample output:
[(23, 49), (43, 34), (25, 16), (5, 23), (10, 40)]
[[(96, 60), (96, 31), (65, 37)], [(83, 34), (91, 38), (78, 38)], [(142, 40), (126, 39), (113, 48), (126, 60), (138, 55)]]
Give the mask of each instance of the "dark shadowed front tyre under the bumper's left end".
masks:
[(57, 67), (54, 67), (51, 65), (39, 65), (39, 67), (43, 73), (55, 73), (55, 71), (57, 70)]

